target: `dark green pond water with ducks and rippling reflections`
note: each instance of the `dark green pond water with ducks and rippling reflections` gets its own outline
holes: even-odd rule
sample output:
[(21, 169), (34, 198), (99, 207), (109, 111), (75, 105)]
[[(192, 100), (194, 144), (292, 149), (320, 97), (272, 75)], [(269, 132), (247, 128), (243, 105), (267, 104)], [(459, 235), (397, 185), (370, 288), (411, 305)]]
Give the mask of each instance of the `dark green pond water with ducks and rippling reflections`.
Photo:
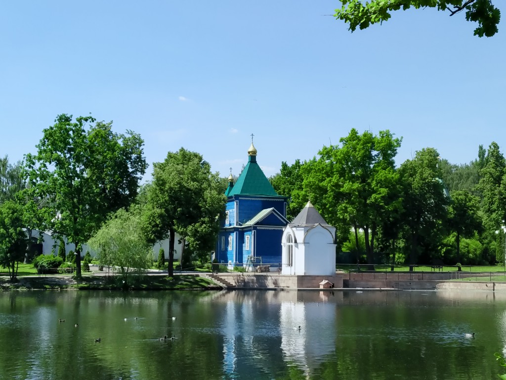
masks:
[(494, 352), (503, 293), (0, 293), (1, 379), (492, 379)]

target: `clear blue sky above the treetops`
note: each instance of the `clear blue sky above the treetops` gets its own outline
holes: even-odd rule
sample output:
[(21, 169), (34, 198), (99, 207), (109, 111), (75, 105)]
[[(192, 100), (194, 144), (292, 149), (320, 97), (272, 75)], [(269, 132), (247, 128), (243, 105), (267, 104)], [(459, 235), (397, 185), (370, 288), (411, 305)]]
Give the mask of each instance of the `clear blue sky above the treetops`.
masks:
[[(495, 3), (499, 3), (496, 1)], [(330, 0), (16, 1), (0, 6), (0, 156), (34, 153), (60, 113), (139, 132), (163, 161), (181, 146), (237, 175), (255, 134), (267, 176), (351, 128), (389, 129), (397, 164), (435, 147), (452, 163), (505, 153), (506, 24), (396, 12), (348, 31)], [(501, 6), (502, 7), (502, 6)], [(503, 18), (506, 7), (502, 7)]]

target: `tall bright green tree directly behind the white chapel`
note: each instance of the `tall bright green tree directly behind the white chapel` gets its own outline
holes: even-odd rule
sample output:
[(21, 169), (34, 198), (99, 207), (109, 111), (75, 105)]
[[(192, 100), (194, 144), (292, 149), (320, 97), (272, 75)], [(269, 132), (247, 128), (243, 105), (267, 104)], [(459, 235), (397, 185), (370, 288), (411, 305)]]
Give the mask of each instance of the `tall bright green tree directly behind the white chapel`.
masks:
[(352, 129), (341, 138), (341, 147), (318, 152), (313, 175), (304, 182), (306, 193), (317, 195), (324, 217), (334, 215), (334, 225), (345, 239), (345, 230), (353, 227), (357, 248), (359, 230), (363, 231), (368, 263), (375, 261), (374, 242), (382, 220), (401, 207), (394, 162), (401, 140), (388, 130), (360, 135)]

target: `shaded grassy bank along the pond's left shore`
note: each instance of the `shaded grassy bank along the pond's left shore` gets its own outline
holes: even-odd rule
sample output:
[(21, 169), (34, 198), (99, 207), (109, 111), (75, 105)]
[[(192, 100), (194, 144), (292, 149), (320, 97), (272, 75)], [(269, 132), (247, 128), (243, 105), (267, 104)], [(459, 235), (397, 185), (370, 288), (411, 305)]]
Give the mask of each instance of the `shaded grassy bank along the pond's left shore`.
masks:
[(44, 276), (21, 277), (16, 282), (0, 279), (1, 290), (17, 289), (77, 289), (77, 290), (188, 290), (221, 289), (213, 281), (199, 276), (130, 276), (123, 283), (119, 276), (83, 276), (75, 277)]

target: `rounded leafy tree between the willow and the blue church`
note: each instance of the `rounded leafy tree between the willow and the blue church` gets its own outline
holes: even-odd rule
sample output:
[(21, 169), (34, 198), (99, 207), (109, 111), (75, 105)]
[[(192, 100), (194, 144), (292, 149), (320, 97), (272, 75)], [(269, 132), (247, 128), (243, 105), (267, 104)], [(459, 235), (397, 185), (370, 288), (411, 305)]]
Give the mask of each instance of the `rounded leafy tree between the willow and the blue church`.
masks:
[(146, 232), (152, 243), (169, 239), (168, 274), (172, 276), (176, 233), (184, 240), (183, 247), (186, 240), (194, 250), (213, 247), (226, 198), (219, 177), (198, 153), (184, 148), (168, 152), (153, 168), (144, 214)]

